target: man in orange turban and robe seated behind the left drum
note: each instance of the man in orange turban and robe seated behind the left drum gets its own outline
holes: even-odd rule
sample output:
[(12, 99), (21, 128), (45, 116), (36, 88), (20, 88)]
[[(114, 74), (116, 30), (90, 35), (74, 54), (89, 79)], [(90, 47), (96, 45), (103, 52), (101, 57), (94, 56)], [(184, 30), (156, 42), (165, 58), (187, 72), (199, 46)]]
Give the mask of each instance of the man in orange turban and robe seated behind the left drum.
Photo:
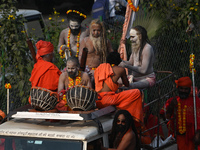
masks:
[(61, 71), (52, 63), (54, 46), (51, 42), (40, 40), (36, 48), (37, 63), (34, 65), (29, 81), (32, 87), (38, 86), (57, 92)]

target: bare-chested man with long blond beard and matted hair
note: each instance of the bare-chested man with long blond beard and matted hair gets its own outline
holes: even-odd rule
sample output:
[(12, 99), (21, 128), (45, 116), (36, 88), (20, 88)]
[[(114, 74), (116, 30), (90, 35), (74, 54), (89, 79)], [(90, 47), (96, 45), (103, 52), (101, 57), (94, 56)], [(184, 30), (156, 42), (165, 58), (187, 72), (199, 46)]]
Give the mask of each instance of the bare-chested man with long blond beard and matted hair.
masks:
[(99, 19), (91, 21), (90, 36), (85, 37), (80, 44), (79, 62), (81, 62), (83, 48), (88, 49), (86, 70), (93, 75), (94, 70), (101, 63), (106, 62), (108, 53), (113, 51), (111, 42), (106, 38), (104, 24)]

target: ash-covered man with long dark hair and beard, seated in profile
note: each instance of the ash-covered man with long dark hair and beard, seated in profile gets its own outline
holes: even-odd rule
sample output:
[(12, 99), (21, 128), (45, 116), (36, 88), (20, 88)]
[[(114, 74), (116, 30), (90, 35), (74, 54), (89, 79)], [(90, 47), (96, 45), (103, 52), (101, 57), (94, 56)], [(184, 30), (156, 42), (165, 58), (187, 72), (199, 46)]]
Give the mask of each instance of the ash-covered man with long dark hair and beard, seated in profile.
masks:
[(153, 70), (154, 51), (150, 45), (147, 31), (142, 26), (135, 26), (130, 31), (132, 54), (129, 61), (123, 61), (120, 66), (128, 68), (129, 88), (147, 88), (156, 82)]

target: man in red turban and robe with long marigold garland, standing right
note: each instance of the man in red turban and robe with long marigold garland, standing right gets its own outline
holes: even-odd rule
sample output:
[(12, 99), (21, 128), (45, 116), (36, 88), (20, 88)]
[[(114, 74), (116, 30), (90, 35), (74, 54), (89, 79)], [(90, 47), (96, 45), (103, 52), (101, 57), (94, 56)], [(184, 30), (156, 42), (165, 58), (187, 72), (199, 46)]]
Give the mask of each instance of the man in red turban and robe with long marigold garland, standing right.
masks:
[[(181, 77), (175, 82), (179, 96), (168, 99), (160, 114), (166, 114), (165, 117), (170, 119), (174, 116), (174, 109), (176, 110), (176, 127), (174, 127), (174, 120), (170, 120), (168, 133), (174, 135), (176, 131), (178, 150), (194, 150), (195, 120), (193, 95), (191, 94), (192, 81), (189, 77)], [(195, 98), (198, 130), (200, 129), (200, 100), (198, 96)]]

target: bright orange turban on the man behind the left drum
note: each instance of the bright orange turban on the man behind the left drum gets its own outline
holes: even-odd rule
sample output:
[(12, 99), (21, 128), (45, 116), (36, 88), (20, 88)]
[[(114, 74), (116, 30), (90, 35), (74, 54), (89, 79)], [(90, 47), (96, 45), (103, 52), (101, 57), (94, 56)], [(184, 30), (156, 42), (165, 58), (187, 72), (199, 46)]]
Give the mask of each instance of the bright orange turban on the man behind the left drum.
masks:
[(37, 60), (43, 55), (52, 53), (54, 50), (54, 46), (53, 44), (51, 44), (51, 42), (42, 41), (42, 40), (37, 42), (36, 48), (37, 48), (37, 55), (36, 55)]

